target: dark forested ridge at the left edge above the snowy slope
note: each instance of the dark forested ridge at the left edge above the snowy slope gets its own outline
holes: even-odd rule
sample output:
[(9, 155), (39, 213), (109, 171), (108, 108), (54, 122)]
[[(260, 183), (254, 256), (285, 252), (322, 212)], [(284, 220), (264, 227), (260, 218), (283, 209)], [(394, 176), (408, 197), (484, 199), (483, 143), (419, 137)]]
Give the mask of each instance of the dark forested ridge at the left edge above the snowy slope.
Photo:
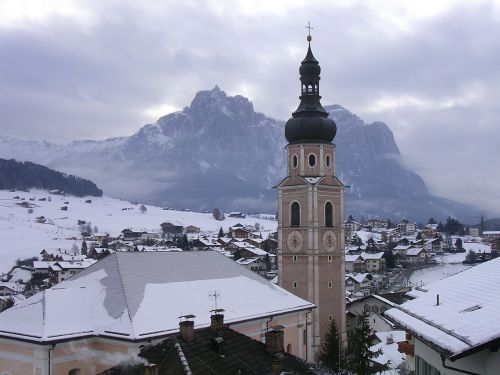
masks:
[(59, 190), (77, 197), (102, 196), (102, 190), (92, 181), (28, 161), (0, 159), (0, 190), (31, 188)]

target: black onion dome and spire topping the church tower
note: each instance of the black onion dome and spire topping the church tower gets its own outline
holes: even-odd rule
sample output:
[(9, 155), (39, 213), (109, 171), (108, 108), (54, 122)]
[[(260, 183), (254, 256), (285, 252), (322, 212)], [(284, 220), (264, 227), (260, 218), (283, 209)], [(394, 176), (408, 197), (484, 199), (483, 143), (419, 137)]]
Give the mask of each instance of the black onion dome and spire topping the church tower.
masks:
[(320, 103), (321, 67), (311, 51), (311, 37), (308, 36), (307, 40), (309, 48), (299, 68), (302, 87), (300, 104), (286, 122), (285, 137), (289, 143), (331, 143), (337, 133), (337, 125)]

